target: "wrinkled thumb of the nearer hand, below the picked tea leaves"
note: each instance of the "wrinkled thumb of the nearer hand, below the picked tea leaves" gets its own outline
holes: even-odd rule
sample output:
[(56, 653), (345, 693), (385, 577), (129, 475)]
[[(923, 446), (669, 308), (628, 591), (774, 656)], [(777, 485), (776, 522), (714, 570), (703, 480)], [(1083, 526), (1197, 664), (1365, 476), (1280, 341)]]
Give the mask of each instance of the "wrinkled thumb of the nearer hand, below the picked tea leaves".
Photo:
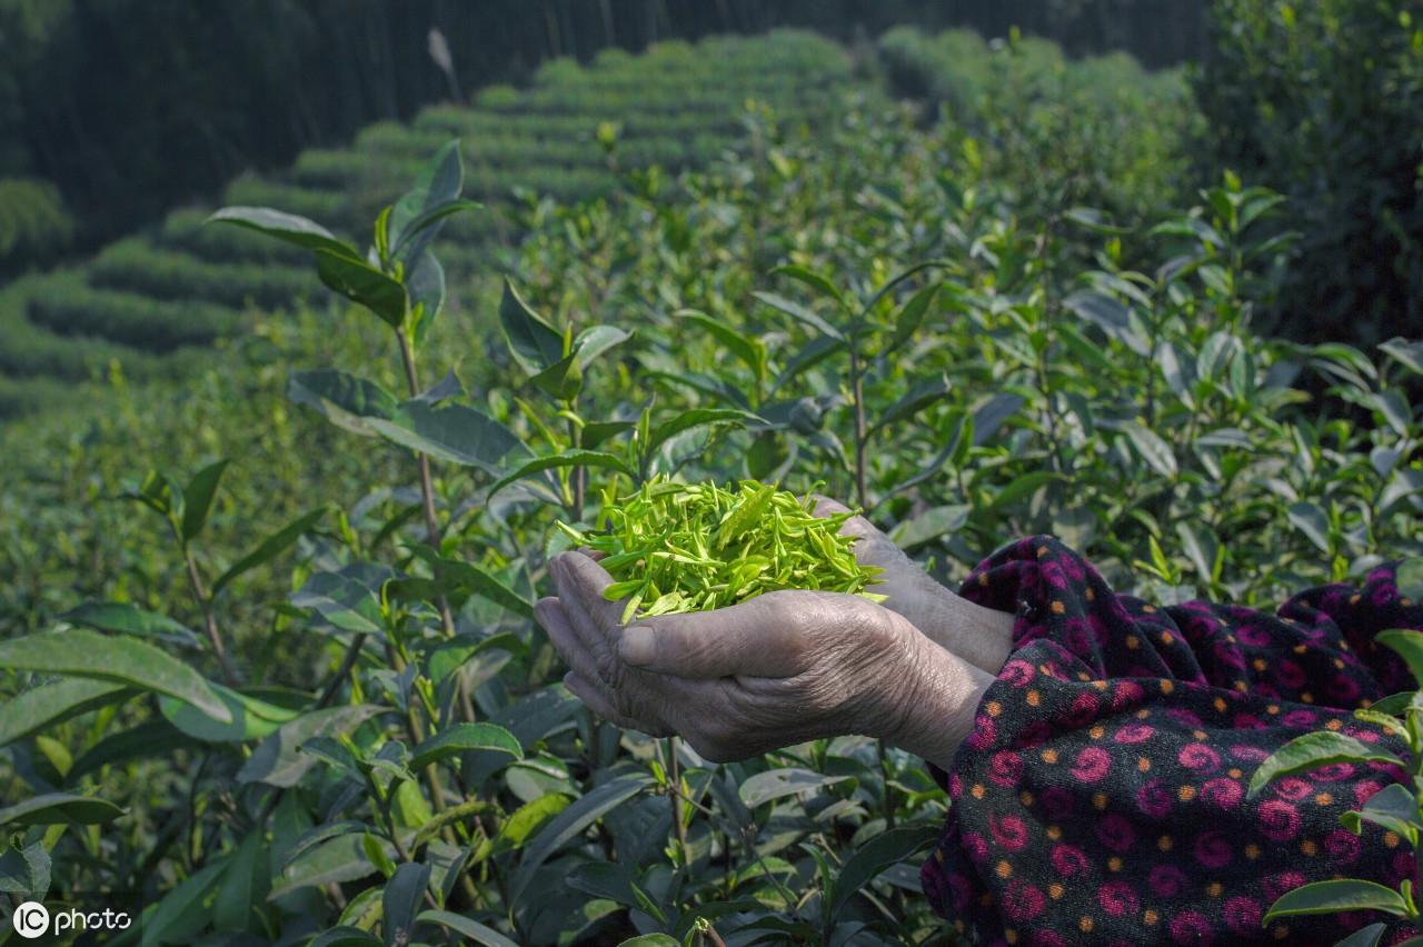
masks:
[(804, 663), (797, 613), (810, 610), (795, 600), (815, 597), (771, 592), (716, 611), (638, 619), (622, 630), (618, 656), (633, 667), (686, 678), (793, 677)]

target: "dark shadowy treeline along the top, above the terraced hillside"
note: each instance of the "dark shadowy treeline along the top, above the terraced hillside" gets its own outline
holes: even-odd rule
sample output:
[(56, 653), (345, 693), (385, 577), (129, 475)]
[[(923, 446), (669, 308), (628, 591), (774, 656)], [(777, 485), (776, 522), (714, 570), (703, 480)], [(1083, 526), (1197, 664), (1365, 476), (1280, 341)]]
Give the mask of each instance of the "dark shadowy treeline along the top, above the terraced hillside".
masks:
[[(1201, 51), (1190, 0), (0, 0), (0, 179), (58, 186), (75, 249), (248, 168), (448, 98), (527, 80), (551, 55), (801, 26), (844, 40), (895, 23), (1010, 26), (1070, 53), (1161, 65)], [(0, 253), (3, 257), (3, 253)], [(33, 262), (33, 260), (31, 260)], [(13, 262), (14, 263), (14, 262)], [(18, 260), (23, 266), (26, 262)], [(0, 259), (0, 269), (4, 260)], [(9, 269), (14, 269), (11, 264)]]

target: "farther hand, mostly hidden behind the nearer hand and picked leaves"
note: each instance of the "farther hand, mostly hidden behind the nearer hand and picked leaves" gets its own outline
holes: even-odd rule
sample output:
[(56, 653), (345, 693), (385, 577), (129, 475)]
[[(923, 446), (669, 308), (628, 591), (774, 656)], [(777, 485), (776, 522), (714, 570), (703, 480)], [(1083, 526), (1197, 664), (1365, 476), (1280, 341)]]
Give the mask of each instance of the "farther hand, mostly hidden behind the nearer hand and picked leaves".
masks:
[[(817, 496), (814, 512), (831, 516), (848, 508), (828, 496)], [(1012, 614), (953, 594), (864, 516), (847, 519), (840, 532), (857, 536), (855, 559), (884, 569), (869, 592), (888, 596), (882, 603), (885, 609), (904, 616), (939, 647), (973, 667), (995, 675), (1003, 668), (1013, 644)]]

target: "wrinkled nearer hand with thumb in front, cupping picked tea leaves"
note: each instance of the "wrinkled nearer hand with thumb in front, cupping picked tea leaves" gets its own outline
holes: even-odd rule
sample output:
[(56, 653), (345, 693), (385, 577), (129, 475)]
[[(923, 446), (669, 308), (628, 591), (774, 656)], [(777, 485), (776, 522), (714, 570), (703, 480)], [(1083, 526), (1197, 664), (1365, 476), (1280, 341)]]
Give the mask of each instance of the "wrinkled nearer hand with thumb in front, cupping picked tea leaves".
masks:
[(680, 734), (714, 762), (865, 734), (948, 764), (992, 681), (858, 596), (774, 592), (623, 627), (598, 563), (564, 553), (549, 572), (558, 597), (535, 611), (572, 668), (569, 690), (610, 722)]

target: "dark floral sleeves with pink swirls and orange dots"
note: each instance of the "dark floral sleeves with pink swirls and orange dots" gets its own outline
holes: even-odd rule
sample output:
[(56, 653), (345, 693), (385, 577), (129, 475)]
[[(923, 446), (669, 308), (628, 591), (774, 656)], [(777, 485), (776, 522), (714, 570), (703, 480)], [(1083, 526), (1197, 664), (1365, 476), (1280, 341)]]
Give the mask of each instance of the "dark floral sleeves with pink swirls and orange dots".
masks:
[[(1360, 589), (1295, 596), (1276, 614), (1158, 609), (1035, 536), (986, 559), (961, 594), (1017, 616), (1013, 651), (946, 774), (948, 826), (922, 872), (969, 943), (1332, 944), (1393, 920), (1261, 926), (1276, 897), (1308, 882), (1414, 877), (1396, 833), (1339, 823), (1400, 769), (1340, 764), (1245, 798), (1266, 755), (1315, 729), (1405, 751), (1352, 715), (1413, 687), (1373, 641), (1383, 628), (1423, 628), (1392, 566)], [(1383, 943), (1416, 933), (1393, 920)]]

